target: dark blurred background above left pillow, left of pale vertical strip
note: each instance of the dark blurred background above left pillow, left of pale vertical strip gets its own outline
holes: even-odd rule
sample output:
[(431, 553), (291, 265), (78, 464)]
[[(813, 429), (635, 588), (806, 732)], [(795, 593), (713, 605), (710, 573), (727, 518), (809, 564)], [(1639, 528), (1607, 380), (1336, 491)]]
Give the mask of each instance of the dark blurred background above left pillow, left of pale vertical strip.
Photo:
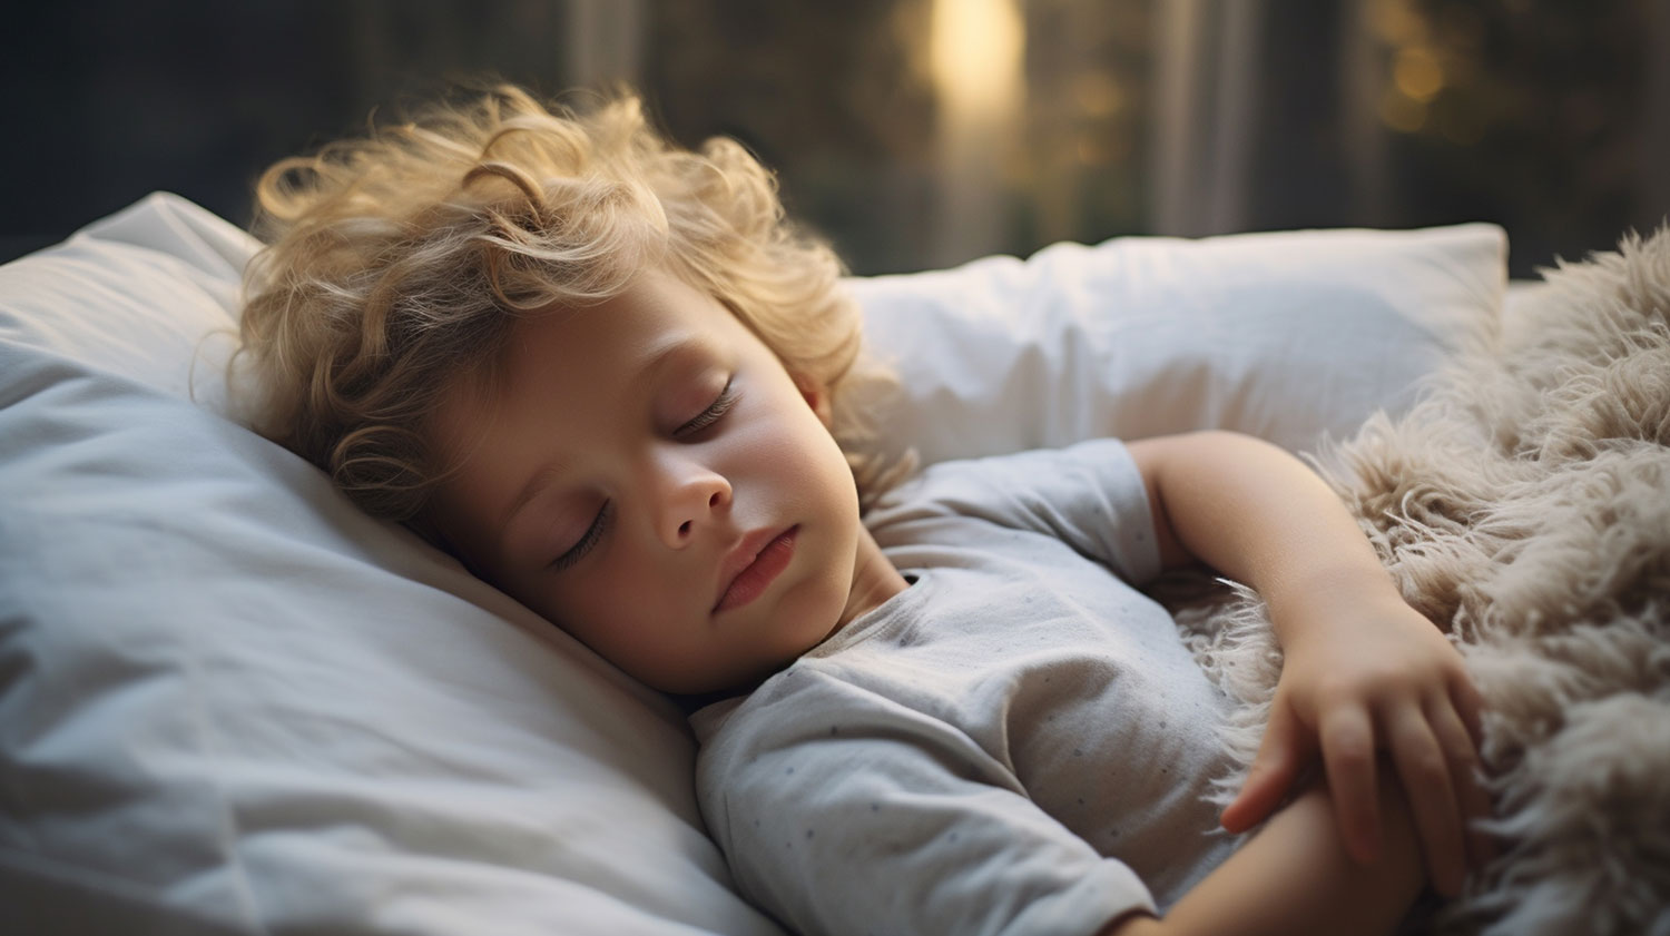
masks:
[(157, 189), (247, 225), (266, 165), (364, 127), (374, 107), (448, 75), (546, 93), (561, 78), (558, 3), (78, 0), (8, 20), (5, 257)]

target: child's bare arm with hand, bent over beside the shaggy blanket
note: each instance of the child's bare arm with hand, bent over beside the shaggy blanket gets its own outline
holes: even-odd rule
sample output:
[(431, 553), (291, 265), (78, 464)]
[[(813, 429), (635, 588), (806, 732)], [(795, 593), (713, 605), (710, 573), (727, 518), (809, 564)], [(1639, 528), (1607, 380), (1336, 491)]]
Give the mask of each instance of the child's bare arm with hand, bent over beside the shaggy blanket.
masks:
[(1319, 751), (1339, 834), (1358, 863), (1378, 848), (1376, 751), (1386, 749), (1433, 884), (1461, 888), (1466, 821), (1485, 813), (1473, 769), (1478, 694), (1443, 634), (1398, 594), (1339, 499), (1281, 449), (1229, 432), (1129, 445), (1147, 484), (1161, 559), (1194, 559), (1254, 587), (1284, 664), (1246, 786), (1224, 811), (1244, 831)]

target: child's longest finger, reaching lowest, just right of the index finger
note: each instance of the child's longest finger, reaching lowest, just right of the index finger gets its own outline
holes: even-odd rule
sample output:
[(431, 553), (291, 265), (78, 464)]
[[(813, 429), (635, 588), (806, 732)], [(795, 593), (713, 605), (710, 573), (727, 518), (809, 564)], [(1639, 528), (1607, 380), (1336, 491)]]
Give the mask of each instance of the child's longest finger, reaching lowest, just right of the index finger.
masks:
[(1386, 726), (1398, 779), (1403, 781), (1414, 828), (1426, 853), (1426, 873), (1433, 888), (1445, 896), (1461, 893), (1466, 879), (1466, 844), (1461, 839), (1461, 809), (1450, 779), (1450, 762), (1440, 747), (1426, 714), (1414, 706), (1401, 706)]

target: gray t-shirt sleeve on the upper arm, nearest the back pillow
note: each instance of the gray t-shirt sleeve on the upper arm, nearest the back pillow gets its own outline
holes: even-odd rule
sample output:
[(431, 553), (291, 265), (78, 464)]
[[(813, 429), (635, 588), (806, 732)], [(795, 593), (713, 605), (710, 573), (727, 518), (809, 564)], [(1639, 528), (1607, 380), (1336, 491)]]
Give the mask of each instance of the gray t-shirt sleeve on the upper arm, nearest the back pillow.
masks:
[(872, 529), (934, 514), (1052, 536), (1131, 584), (1161, 572), (1147, 489), (1119, 439), (940, 462), (883, 497)]

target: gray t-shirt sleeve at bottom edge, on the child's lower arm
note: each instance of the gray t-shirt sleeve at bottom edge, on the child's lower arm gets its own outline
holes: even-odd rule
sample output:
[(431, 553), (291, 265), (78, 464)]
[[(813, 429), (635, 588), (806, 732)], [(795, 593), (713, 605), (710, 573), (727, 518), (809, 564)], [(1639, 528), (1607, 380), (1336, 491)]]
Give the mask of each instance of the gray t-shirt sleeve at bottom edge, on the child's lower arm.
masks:
[(1154, 913), (967, 736), (815, 671), (743, 702), (696, 772), (741, 893), (808, 936), (1092, 934)]

